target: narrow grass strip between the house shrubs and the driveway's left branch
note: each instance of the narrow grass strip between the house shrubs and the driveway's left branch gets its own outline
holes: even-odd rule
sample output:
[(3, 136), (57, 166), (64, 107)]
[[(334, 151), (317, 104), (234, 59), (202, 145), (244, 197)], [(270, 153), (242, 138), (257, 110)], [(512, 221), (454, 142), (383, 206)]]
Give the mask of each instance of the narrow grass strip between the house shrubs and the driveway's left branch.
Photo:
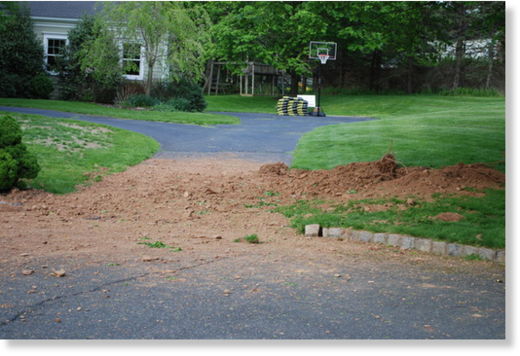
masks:
[(79, 101), (0, 98), (0, 106), (37, 108), (44, 110), (56, 110), (78, 113), (83, 115), (106, 116), (143, 121), (162, 121), (192, 125), (217, 125), (240, 123), (240, 120), (237, 117), (229, 115), (197, 112), (160, 112), (151, 110), (129, 110)]

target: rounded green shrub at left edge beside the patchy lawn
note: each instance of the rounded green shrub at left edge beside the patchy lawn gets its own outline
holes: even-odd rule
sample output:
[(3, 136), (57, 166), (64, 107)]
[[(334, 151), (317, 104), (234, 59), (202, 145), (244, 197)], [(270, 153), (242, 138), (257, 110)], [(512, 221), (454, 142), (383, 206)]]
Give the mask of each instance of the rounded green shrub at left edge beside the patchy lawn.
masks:
[(11, 116), (0, 117), (0, 191), (21, 187), (22, 178), (36, 178), (40, 166), (22, 143), (22, 129)]

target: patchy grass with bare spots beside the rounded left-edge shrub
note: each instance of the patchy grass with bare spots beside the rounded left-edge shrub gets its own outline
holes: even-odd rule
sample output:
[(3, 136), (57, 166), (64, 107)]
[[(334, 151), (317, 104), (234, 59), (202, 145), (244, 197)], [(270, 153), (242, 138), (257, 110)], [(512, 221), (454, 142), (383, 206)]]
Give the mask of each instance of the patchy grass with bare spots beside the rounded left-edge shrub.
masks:
[(151, 157), (159, 144), (144, 135), (75, 120), (8, 114), (22, 125), (23, 142), (36, 154), (41, 171), (30, 187), (51, 193), (73, 192), (103, 176)]

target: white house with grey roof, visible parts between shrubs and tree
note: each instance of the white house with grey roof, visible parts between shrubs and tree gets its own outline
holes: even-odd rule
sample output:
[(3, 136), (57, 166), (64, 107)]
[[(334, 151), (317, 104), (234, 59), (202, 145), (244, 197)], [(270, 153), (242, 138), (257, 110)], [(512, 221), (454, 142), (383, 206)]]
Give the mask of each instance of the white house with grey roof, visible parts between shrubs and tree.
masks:
[[(68, 43), (68, 34), (80, 21), (83, 15), (94, 15), (102, 8), (102, 1), (24, 1), (31, 13), (34, 24), (34, 32), (42, 41), (45, 64), (49, 74), (53, 75), (52, 65), (56, 56), (60, 55), (60, 49)], [(133, 62), (125, 73), (129, 80), (142, 81), (147, 75), (147, 65), (143, 55), (144, 48), (135, 42), (119, 41), (121, 51), (121, 64)], [(124, 66), (128, 67), (128, 66)], [(158, 61), (154, 66), (154, 79), (167, 77), (166, 65)]]

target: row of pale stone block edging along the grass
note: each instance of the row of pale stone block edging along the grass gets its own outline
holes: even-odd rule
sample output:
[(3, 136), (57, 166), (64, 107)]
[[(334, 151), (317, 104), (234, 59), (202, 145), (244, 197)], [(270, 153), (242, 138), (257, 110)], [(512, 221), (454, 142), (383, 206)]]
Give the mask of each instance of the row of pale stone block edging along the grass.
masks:
[(379, 243), (402, 250), (418, 250), (442, 256), (464, 257), (477, 255), (484, 260), (505, 263), (505, 250), (492, 249), (488, 247), (476, 247), (458, 243), (437, 241), (423, 237), (408, 235), (374, 233), (363, 230), (352, 230), (351, 228), (330, 227), (322, 228), (319, 224), (305, 225), (306, 237), (333, 237), (343, 238), (348, 241), (359, 241), (368, 243)]

